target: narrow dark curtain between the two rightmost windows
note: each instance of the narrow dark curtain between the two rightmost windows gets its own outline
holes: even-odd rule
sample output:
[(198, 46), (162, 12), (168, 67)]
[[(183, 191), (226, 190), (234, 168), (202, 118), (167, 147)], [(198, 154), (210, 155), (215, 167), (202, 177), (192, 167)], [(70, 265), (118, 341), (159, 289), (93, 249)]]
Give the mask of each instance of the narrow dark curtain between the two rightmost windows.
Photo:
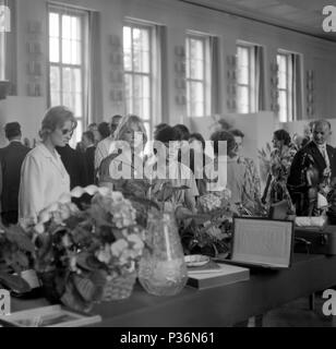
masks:
[(254, 46), (255, 58), (255, 111), (265, 110), (264, 48)]

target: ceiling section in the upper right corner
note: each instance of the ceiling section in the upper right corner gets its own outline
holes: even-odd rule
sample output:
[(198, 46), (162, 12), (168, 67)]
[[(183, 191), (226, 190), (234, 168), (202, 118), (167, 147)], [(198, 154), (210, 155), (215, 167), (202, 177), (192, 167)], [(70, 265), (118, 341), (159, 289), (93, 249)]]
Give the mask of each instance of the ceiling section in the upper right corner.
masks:
[[(336, 0), (180, 0), (336, 41), (336, 33), (324, 33), (322, 14)], [(336, 14), (335, 14), (336, 16)], [(336, 23), (335, 23), (336, 24)]]

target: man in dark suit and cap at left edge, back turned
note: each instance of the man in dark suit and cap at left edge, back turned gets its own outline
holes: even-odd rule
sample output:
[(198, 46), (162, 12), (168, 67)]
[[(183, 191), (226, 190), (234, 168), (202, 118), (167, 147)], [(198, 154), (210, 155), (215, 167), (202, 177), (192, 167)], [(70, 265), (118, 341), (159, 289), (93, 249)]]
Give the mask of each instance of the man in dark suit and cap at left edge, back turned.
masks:
[(1, 219), (4, 226), (9, 226), (17, 224), (21, 166), (31, 148), (21, 143), (19, 122), (7, 123), (4, 133), (10, 144), (0, 149)]

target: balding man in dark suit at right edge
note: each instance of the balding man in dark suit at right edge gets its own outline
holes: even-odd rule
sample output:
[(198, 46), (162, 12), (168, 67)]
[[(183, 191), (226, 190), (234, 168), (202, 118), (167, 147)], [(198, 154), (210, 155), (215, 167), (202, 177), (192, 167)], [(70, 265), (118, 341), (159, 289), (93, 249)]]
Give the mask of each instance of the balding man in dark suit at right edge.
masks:
[(317, 120), (312, 131), (312, 141), (296, 154), (287, 180), (297, 215), (300, 216), (312, 213), (309, 202), (316, 200), (317, 191), (336, 178), (335, 149), (326, 144), (332, 133), (331, 123)]

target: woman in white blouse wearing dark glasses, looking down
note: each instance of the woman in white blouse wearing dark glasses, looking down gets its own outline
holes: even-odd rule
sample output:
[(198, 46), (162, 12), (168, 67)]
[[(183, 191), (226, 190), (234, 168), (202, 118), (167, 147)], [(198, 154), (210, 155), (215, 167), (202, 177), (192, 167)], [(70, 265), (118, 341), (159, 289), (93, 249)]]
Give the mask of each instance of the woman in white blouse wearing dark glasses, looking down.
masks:
[(21, 170), (19, 218), (23, 226), (70, 192), (70, 178), (56, 147), (69, 143), (76, 124), (73, 112), (63, 106), (47, 110), (39, 132), (43, 141), (27, 154)]

